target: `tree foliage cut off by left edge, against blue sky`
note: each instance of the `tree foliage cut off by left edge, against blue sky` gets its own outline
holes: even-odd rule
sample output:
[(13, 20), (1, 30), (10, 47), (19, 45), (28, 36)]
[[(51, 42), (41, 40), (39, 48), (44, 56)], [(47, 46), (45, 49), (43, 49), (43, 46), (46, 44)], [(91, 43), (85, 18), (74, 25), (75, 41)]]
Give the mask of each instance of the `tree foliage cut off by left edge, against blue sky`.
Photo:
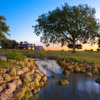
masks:
[(9, 32), (9, 26), (5, 23), (6, 18), (3, 16), (0, 16), (0, 40), (5, 39), (6, 35), (10, 35)]

